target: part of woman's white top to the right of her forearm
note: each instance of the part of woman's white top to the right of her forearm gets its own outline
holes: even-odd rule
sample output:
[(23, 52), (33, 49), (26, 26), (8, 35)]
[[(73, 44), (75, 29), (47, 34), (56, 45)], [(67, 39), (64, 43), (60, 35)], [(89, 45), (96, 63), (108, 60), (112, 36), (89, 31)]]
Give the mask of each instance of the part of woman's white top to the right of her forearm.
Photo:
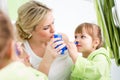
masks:
[(66, 53), (60, 55), (52, 63), (48, 75), (48, 80), (70, 80), (69, 78), (73, 62), (68, 53)]

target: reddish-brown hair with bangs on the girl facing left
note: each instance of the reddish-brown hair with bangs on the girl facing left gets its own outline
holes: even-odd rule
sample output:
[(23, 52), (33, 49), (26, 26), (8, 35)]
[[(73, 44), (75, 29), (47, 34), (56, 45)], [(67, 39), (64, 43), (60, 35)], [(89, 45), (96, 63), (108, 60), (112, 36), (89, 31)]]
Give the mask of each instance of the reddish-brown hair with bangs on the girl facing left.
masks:
[(96, 49), (100, 48), (103, 45), (101, 29), (98, 25), (93, 23), (82, 23), (75, 29), (75, 34), (83, 33), (83, 29), (92, 37), (94, 40), (98, 38), (100, 40), (99, 45)]

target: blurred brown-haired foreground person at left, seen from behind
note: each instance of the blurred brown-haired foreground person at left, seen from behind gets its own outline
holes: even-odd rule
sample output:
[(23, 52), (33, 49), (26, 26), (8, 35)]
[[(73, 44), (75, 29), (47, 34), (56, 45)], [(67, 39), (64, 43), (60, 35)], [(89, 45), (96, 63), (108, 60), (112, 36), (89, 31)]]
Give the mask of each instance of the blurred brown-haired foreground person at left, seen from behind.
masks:
[(13, 26), (0, 11), (0, 80), (48, 80), (45, 74), (26, 66), (16, 49)]

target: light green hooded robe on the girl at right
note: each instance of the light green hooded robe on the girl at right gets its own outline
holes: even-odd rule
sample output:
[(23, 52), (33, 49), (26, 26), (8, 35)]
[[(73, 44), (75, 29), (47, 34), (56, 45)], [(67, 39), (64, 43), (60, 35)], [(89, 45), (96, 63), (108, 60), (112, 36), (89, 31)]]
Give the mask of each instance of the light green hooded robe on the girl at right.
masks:
[(71, 80), (110, 80), (110, 57), (106, 49), (93, 51), (88, 58), (78, 56)]

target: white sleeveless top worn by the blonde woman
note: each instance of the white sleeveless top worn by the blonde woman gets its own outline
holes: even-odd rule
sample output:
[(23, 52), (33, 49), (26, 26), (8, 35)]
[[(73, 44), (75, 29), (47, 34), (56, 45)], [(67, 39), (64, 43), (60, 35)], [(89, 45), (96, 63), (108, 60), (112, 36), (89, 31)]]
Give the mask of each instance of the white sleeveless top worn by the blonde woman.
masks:
[[(30, 63), (36, 69), (38, 69), (42, 58), (38, 57), (30, 48), (28, 41), (24, 42), (25, 51), (30, 56)], [(71, 67), (73, 65), (72, 59), (68, 55), (68, 51), (65, 54), (58, 56), (52, 63), (48, 74), (48, 80), (70, 80)]]

